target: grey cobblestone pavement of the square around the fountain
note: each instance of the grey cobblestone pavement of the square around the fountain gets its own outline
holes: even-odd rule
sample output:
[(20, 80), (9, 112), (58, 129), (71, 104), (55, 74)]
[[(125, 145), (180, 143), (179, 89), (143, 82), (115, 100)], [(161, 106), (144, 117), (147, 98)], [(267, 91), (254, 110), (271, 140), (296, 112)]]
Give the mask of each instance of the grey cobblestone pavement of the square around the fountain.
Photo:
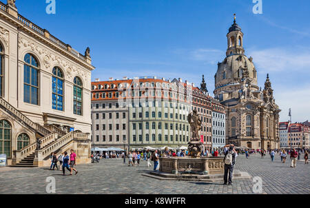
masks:
[(61, 171), (50, 171), (49, 167), (1, 167), (0, 194), (46, 194), (48, 176), (55, 178), (56, 194), (254, 194), (255, 176), (262, 178), (262, 194), (310, 194), (310, 166), (298, 161), (292, 168), (290, 162), (281, 163), (278, 154), (273, 162), (269, 155), (260, 158), (254, 154), (248, 159), (240, 155), (235, 169), (247, 171), (251, 179), (233, 180), (232, 186), (223, 185), (222, 180), (206, 183), (149, 178), (142, 176), (152, 171), (145, 161), (128, 167), (123, 159), (78, 165), (79, 174), (73, 176), (62, 176)]

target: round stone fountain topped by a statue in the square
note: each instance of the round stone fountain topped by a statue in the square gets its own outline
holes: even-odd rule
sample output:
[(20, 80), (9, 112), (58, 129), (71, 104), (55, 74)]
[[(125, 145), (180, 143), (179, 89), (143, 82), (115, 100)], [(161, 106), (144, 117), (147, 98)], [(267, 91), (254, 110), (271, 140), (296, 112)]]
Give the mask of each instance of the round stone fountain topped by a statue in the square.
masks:
[[(201, 156), (203, 143), (200, 141), (199, 132), (201, 120), (196, 110), (188, 115), (191, 127), (191, 141), (188, 143), (189, 156), (161, 157), (159, 158), (159, 171), (143, 174), (144, 176), (158, 179), (172, 180), (214, 180), (223, 179), (224, 157)], [(234, 176), (241, 176), (240, 171), (234, 171)], [(245, 177), (248, 178), (249, 176)], [(212, 179), (213, 178), (213, 179)]]

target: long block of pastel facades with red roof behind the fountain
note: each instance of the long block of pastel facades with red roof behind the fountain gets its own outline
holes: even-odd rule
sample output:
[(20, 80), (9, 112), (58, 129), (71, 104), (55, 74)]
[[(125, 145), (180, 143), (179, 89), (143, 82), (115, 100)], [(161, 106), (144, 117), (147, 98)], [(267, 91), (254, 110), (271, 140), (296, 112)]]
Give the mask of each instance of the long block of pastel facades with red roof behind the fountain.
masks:
[(126, 149), (187, 145), (191, 138), (187, 116), (196, 109), (205, 149), (212, 149), (212, 119), (218, 125), (214, 129), (218, 134), (213, 139), (215, 147), (223, 147), (225, 109), (207, 94), (204, 81), (201, 86), (156, 76), (93, 82), (93, 145), (125, 145)]

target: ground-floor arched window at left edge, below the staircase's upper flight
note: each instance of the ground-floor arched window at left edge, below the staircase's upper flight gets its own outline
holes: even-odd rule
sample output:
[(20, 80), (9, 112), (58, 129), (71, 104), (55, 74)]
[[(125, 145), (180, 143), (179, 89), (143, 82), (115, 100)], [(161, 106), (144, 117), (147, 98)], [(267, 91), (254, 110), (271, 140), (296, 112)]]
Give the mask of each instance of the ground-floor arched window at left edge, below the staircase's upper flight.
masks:
[(6, 154), (7, 157), (11, 156), (11, 135), (12, 127), (6, 120), (0, 121), (0, 154)]

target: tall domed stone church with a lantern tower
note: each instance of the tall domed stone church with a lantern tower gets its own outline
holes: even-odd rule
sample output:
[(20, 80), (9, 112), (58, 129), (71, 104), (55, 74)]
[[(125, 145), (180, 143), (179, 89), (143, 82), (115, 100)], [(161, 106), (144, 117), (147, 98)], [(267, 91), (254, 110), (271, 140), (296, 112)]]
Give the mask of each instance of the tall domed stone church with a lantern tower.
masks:
[(253, 58), (245, 56), (243, 33), (236, 23), (227, 34), (226, 58), (218, 63), (214, 95), (226, 106), (226, 143), (252, 149), (279, 148), (279, 107), (269, 75), (258, 87)]

